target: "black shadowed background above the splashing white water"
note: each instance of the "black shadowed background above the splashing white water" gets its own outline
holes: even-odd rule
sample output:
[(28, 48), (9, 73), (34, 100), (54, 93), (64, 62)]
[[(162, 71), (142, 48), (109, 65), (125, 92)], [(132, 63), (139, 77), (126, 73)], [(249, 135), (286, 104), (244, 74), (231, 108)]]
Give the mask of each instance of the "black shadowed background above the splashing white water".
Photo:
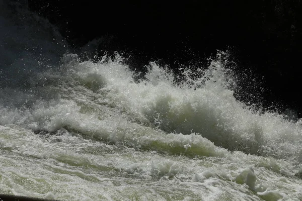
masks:
[[(28, 0), (28, 5), (55, 24), (71, 47), (103, 38), (99, 51), (131, 54), (137, 67), (155, 59), (174, 69), (205, 64), (217, 49), (229, 50), (237, 71), (253, 74), (255, 85), (262, 80), (264, 108), (278, 105), (281, 112), (291, 109), (302, 117), (299, 0)], [(244, 81), (240, 84), (247, 93), (260, 92)], [(237, 96), (246, 102), (253, 99)]]

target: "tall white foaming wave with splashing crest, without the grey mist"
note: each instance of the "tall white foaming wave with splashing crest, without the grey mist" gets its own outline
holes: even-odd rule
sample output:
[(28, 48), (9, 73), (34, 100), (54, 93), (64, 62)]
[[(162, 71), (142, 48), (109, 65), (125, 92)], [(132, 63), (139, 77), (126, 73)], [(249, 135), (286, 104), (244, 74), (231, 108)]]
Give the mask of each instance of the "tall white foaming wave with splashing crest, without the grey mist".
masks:
[(236, 100), (219, 60), (199, 80), (187, 77), (181, 84), (155, 62), (139, 81), (119, 56), (94, 63), (67, 54), (62, 63), (59, 70), (36, 74), (37, 82), (26, 90), (2, 89), (8, 99), (19, 98), (23, 105), (16, 101), (4, 106), (8, 100), (2, 98), (5, 115), (0, 124), (33, 131), (66, 129), (91, 139), (169, 153), (219, 156), (222, 147), (300, 160), (301, 124), (275, 113), (255, 112)]

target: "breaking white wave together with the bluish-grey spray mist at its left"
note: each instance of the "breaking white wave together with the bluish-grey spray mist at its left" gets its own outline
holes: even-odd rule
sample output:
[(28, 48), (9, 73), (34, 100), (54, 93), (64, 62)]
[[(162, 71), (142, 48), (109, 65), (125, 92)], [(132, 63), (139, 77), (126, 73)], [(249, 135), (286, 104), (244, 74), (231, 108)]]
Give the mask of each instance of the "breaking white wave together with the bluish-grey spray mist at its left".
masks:
[[(234, 97), (223, 52), (182, 81), (157, 62), (143, 75), (125, 58), (81, 61), (47, 20), (2, 13), (0, 125), (68, 131), (135, 149), (223, 156), (228, 151), (301, 161), (301, 120), (261, 113)], [(37, 31), (39, 30), (39, 31)], [(193, 72), (194, 71), (194, 72)], [(196, 74), (195, 72), (198, 72)], [(140, 78), (138, 78), (140, 77)], [(226, 151), (228, 150), (228, 151)]]

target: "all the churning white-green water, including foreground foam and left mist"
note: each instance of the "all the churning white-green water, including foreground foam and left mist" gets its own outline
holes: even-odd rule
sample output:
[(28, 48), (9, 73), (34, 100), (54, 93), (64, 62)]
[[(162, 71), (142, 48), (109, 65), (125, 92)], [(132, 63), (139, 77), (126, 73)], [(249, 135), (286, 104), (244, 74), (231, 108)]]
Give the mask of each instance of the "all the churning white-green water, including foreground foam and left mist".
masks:
[(198, 78), (156, 62), (137, 76), (118, 54), (82, 62), (47, 20), (0, 8), (0, 193), (302, 199), (301, 121), (236, 100), (220, 55)]

